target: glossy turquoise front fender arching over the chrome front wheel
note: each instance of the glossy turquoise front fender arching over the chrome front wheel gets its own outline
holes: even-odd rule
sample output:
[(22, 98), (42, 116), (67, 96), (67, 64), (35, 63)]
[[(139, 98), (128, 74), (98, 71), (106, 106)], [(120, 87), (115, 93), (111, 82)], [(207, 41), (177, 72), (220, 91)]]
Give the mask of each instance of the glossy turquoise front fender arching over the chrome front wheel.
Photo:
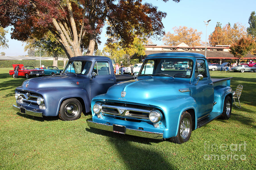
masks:
[(164, 113), (164, 120), (166, 122), (166, 128), (164, 129), (165, 139), (177, 135), (179, 129), (179, 119), (183, 111), (191, 108), (194, 109), (195, 120), (197, 120), (196, 100), (189, 95), (164, 97), (150, 102), (150, 106), (157, 107)]

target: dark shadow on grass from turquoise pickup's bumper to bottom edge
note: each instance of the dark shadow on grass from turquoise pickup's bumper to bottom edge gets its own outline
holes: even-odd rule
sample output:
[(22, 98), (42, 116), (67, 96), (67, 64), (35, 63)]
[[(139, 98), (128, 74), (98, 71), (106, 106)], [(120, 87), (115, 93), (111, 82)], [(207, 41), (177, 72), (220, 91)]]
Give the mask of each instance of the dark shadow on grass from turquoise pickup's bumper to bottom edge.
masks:
[[(92, 119), (88, 118), (87, 120)], [(95, 128), (86, 128), (86, 131), (107, 136), (111, 146), (114, 146), (122, 157), (126, 169), (176, 169), (174, 165), (165, 160), (163, 154), (144, 146), (151, 145), (151, 143), (160, 143), (161, 140), (123, 135)], [(135, 145), (134, 143), (141, 145)]]

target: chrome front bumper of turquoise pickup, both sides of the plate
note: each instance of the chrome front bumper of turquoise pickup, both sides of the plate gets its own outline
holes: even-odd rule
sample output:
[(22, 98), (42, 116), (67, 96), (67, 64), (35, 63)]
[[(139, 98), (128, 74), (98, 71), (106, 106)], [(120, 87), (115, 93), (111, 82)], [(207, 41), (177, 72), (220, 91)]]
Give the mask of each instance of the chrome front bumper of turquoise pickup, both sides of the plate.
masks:
[[(87, 124), (91, 128), (102, 129), (102, 130), (107, 130), (107, 131), (113, 132), (112, 125), (96, 123), (91, 120), (88, 120)], [(139, 129), (125, 128), (125, 134), (139, 136), (139, 137), (145, 137), (145, 138), (151, 138), (151, 139), (161, 139), (161, 140), (163, 139), (163, 133), (148, 132), (148, 131), (143, 131), (143, 130), (139, 130)]]

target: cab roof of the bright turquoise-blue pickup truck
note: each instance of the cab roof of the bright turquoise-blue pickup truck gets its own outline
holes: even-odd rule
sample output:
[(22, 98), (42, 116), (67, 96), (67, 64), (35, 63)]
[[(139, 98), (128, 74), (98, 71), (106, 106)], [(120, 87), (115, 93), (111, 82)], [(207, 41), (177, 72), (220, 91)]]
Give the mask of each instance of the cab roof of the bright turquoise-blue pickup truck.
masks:
[(204, 57), (205, 56), (203, 54), (199, 54), (199, 53), (193, 53), (193, 52), (161, 52), (161, 53), (156, 53), (156, 54), (150, 54), (147, 57), (168, 57), (168, 56), (182, 56), (182, 57)]

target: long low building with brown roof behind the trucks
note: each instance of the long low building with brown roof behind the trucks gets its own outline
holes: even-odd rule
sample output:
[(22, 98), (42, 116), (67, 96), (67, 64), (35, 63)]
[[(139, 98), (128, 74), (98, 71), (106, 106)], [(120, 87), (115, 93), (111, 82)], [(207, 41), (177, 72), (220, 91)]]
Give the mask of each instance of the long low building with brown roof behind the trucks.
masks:
[[(177, 46), (158, 46), (157, 44), (144, 44), (146, 56), (149, 54), (162, 53), (162, 52), (195, 52), (205, 55), (205, 46), (188, 46), (184, 42)], [(229, 45), (216, 45), (215, 47), (207, 46), (206, 58), (208, 62), (211, 63), (231, 63), (234, 59), (236, 64), (239, 59), (234, 57), (233, 54), (229, 52)], [(143, 60), (145, 56), (138, 56), (134, 54), (130, 59), (141, 59)], [(233, 61), (234, 61), (233, 60)], [(252, 54), (247, 54), (242, 60), (256, 60), (256, 56)]]

